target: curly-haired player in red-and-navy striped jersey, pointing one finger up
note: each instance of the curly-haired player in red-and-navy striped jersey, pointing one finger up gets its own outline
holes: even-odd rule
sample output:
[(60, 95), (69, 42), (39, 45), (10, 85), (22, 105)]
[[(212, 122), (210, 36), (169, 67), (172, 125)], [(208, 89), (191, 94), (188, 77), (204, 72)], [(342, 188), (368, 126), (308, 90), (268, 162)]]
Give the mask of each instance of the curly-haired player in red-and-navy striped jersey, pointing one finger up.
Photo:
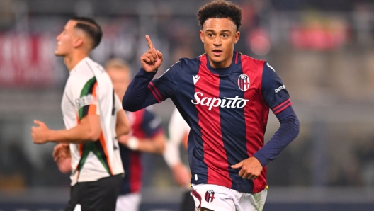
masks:
[[(211, 1), (198, 11), (205, 54), (180, 59), (152, 80), (162, 52), (149, 50), (123, 97), (125, 110), (171, 98), (191, 127), (188, 160), (196, 210), (263, 210), (266, 165), (297, 137), (300, 123), (288, 91), (268, 62), (234, 51), (242, 11)], [(269, 110), (280, 127), (264, 144)]]

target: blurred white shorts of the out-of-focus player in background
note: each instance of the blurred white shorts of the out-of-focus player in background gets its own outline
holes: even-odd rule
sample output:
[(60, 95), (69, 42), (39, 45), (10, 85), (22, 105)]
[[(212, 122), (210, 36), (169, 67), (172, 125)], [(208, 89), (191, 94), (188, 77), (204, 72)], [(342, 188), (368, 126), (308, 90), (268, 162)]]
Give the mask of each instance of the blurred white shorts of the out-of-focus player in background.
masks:
[(140, 200), (142, 200), (140, 193), (118, 195), (115, 211), (137, 211), (140, 207)]

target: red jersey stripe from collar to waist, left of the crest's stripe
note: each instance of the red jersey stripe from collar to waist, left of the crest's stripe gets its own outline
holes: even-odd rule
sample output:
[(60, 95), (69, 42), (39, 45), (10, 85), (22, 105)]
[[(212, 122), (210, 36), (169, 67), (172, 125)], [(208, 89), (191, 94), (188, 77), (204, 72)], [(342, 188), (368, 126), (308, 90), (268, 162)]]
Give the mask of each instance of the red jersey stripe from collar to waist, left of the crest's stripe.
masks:
[(210, 73), (206, 58), (200, 57), (200, 80), (195, 84), (195, 93), (203, 94), (196, 109), (203, 139), (204, 163), (208, 165), (208, 184), (231, 188), (232, 179), (229, 177), (229, 164), (222, 139), (220, 107), (209, 110), (207, 106), (213, 98), (220, 98), (220, 76)]

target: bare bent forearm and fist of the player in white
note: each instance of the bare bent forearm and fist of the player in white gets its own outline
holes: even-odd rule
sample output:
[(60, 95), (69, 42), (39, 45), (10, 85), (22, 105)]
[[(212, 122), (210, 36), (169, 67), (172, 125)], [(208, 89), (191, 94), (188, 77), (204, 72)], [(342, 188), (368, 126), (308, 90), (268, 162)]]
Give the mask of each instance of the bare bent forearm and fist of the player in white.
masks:
[(50, 130), (39, 120), (34, 120), (34, 123), (39, 126), (31, 128), (31, 137), (35, 144), (95, 142), (101, 135), (100, 116), (96, 114), (84, 116), (76, 127), (69, 130)]

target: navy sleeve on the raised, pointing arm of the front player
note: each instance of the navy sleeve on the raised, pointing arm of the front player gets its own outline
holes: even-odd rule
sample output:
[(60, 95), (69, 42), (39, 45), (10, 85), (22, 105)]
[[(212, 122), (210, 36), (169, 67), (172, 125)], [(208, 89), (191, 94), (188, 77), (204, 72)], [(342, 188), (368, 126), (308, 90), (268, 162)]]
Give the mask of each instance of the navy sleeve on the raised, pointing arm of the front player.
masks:
[[(154, 103), (161, 103), (173, 96), (178, 86), (178, 71), (181, 68), (179, 62), (166, 69), (162, 76), (152, 80), (155, 73), (140, 69), (132, 79), (128, 90), (123, 96), (123, 109), (136, 111)], [(152, 80), (152, 81), (151, 81)]]

